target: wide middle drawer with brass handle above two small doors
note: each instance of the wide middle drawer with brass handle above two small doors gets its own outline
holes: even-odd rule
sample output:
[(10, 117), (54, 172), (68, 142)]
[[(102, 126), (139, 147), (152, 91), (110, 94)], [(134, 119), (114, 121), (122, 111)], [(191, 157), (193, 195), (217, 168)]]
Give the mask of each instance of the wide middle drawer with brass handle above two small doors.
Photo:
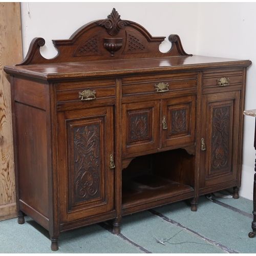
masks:
[(197, 74), (129, 77), (122, 79), (124, 96), (173, 92), (197, 87)]

